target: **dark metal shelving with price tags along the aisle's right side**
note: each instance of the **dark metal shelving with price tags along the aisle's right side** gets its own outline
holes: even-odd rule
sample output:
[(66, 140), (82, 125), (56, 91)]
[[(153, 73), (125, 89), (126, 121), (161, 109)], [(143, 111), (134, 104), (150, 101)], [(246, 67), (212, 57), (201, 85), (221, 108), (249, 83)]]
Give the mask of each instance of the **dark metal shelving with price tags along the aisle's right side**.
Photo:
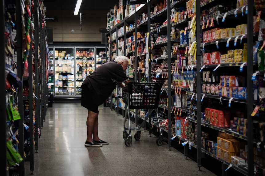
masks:
[[(220, 13), (217, 13), (215, 15), (209, 15), (209, 18), (207, 19), (200, 19), (200, 16), (203, 14), (203, 11), (205, 13), (205, 10), (207, 11), (208, 9), (211, 9), (212, 7), (219, 5), (219, 4), (224, 4), (224, 2), (219, 1), (219, 0), (208, 0), (208, 1), (200, 1), (202, 2), (200, 4), (200, 2), (196, 3), (196, 6), (194, 6), (195, 4), (193, 4), (192, 9), (188, 9), (187, 10), (187, 16), (186, 13), (184, 14), (186, 17), (184, 19), (178, 20), (177, 22), (173, 22), (170, 21), (169, 19), (171, 18), (171, 10), (173, 8), (179, 8), (179, 7), (186, 7), (186, 4), (188, 2), (188, 0), (180, 0), (180, 1), (168, 1), (167, 7), (160, 9), (158, 13), (151, 15), (151, 11), (153, 11), (153, 8), (156, 6), (157, 3), (160, 3), (159, 0), (150, 0), (148, 1), (146, 4), (142, 4), (140, 6), (138, 6), (134, 12), (131, 12), (130, 14), (128, 14), (128, 16), (124, 17), (123, 20), (121, 20), (120, 23), (116, 24), (115, 26), (113, 26), (113, 28), (110, 29), (110, 43), (108, 43), (108, 46), (110, 44), (110, 60), (113, 60), (113, 58), (118, 55), (118, 50), (119, 47), (115, 47), (115, 45), (113, 43), (118, 43), (118, 39), (120, 39), (122, 37), (122, 35), (117, 35), (117, 31), (119, 31), (119, 29), (121, 27), (124, 27), (124, 33), (125, 35), (124, 37), (124, 47), (125, 47), (125, 56), (127, 56), (128, 58), (131, 59), (131, 66), (132, 68), (129, 69), (129, 77), (133, 79), (133, 81), (139, 81), (141, 78), (141, 76), (144, 76), (144, 69), (137, 69), (139, 61), (141, 60), (141, 57), (146, 55), (146, 58), (148, 58), (148, 60), (150, 59), (150, 62), (157, 62), (157, 63), (161, 63), (164, 61), (167, 61), (167, 67), (171, 68), (168, 69), (167, 72), (164, 71), (160, 71), (160, 75), (157, 72), (148, 72), (146, 73), (146, 75), (148, 75), (148, 81), (151, 81), (151, 77), (157, 77), (157, 79), (162, 79), (163, 81), (167, 80), (168, 84), (167, 87), (171, 87), (171, 82), (174, 81), (174, 75), (176, 73), (176, 70), (184, 70), (184, 73), (186, 72), (192, 72), (192, 74), (194, 74), (194, 77), (196, 78), (196, 87), (192, 90), (190, 89), (190, 87), (184, 87), (184, 86), (173, 86), (173, 88), (171, 89), (171, 91), (169, 91), (169, 89), (164, 88), (165, 91), (167, 91), (167, 96), (168, 99), (171, 99), (172, 96), (174, 96), (175, 94), (183, 94), (185, 96), (189, 96), (192, 97), (194, 96), (194, 108), (192, 107), (192, 109), (194, 110), (194, 112), (192, 112), (194, 115), (191, 116), (191, 112), (189, 110), (188, 107), (178, 107), (178, 106), (174, 106), (171, 104), (171, 101), (168, 102), (168, 106), (160, 106), (160, 110), (166, 111), (167, 115), (168, 115), (168, 130), (164, 130), (164, 132), (168, 133), (168, 146), (171, 147), (171, 138), (173, 135), (175, 135), (171, 129), (172, 124), (171, 124), (171, 117), (174, 118), (174, 114), (176, 113), (172, 113), (172, 112), (178, 112), (178, 111), (182, 111), (182, 117), (187, 117), (186, 120), (188, 120), (189, 122), (191, 122), (192, 124), (196, 124), (197, 125), (197, 141), (196, 144), (194, 143), (194, 141), (188, 141), (188, 143), (191, 145), (191, 147), (195, 148), (197, 150), (197, 165), (199, 168), (202, 167), (202, 159), (205, 157), (205, 154), (208, 156), (211, 156), (212, 158), (215, 158), (217, 160), (220, 161), (220, 163), (222, 164), (222, 174), (225, 175), (227, 172), (225, 172), (225, 170), (227, 169), (228, 165), (230, 165), (230, 161), (226, 160), (226, 159), (222, 159), (220, 157), (217, 157), (216, 155), (208, 152), (203, 144), (202, 144), (202, 139), (201, 139), (201, 132), (202, 131), (211, 131), (212, 133), (218, 133), (218, 132), (223, 132), (226, 134), (229, 134), (233, 137), (235, 137), (235, 139), (240, 140), (241, 142), (244, 142), (245, 144), (247, 144), (247, 160), (248, 160), (248, 167), (236, 167), (235, 165), (232, 165), (232, 168), (236, 171), (238, 171), (241, 174), (244, 175), (253, 175), (254, 173), (254, 153), (253, 153), (253, 147), (257, 146), (257, 143), (259, 142), (258, 140), (253, 140), (253, 116), (251, 116), (254, 107), (256, 106), (257, 109), (259, 109), (259, 111), (264, 110), (264, 107), (259, 107), (258, 104), (256, 105), (257, 102), (253, 101), (253, 82), (251, 81), (251, 77), (252, 74), (256, 71), (256, 66), (257, 63), (255, 61), (252, 60), (253, 58), (253, 44), (252, 42), (255, 42), (257, 40), (257, 36), (259, 35), (258, 32), (245, 32), (245, 33), (240, 33), (240, 34), (233, 34), (232, 36), (225, 36), (225, 37), (221, 37), (220, 39), (214, 39), (213, 41), (206, 41), (206, 42), (200, 42), (201, 38), (203, 39), (203, 37), (201, 37), (201, 34), (203, 34), (204, 31), (208, 31), (209, 29), (213, 29), (213, 28), (235, 28), (236, 25), (239, 24), (253, 24), (253, 16), (254, 14), (259, 14), (258, 12), (256, 12), (255, 10), (253, 11), (253, 1), (249, 2), (248, 4), (244, 4), (240, 7), (236, 7), (234, 9), (232, 9), (230, 7), (227, 8), (225, 11), (222, 11)], [(235, 1), (236, 2), (236, 1)], [(125, 4), (126, 2), (124, 2)], [(236, 4), (236, 3), (235, 3)], [(126, 7), (124, 6), (124, 9)], [(171, 38), (171, 28), (175, 27), (175, 28), (181, 28), (181, 29), (185, 29), (187, 30), (187, 32), (189, 31), (189, 28), (187, 28), (193, 20), (193, 15), (191, 15), (192, 13), (194, 13), (194, 10), (196, 9), (197, 12), (200, 12), (200, 15), (197, 15), (195, 18), (196, 21), (196, 34), (195, 37), (193, 39), (192, 42), (195, 42), (196, 45), (194, 46), (196, 48), (196, 51), (194, 52), (195, 54), (193, 55), (193, 59), (195, 60), (195, 62), (188, 62), (188, 64), (186, 63), (186, 65), (177, 65), (174, 64), (173, 62), (175, 62), (177, 60), (177, 57), (175, 56), (175, 52), (177, 53), (177, 51), (180, 52), (184, 52), (185, 51), (189, 51), (189, 49), (191, 48), (190, 46), (192, 46), (192, 42), (190, 43), (178, 43), (179, 40), (178, 39), (172, 39)], [(248, 10), (247, 10), (248, 9)], [(141, 19), (141, 15), (143, 15), (143, 13), (146, 13), (148, 15), (148, 20), (140, 20)], [(242, 13), (244, 15), (242, 15)], [(199, 14), (199, 13), (198, 13)], [(262, 13), (263, 14), (263, 13)], [(168, 21), (170, 21), (170, 23), (168, 22), (167, 24), (162, 24), (162, 22), (166, 21), (168, 19)], [(223, 22), (224, 21), (224, 22)], [(161, 25), (157, 28), (149, 28), (150, 24), (153, 23), (157, 23), (160, 22)], [(130, 24), (133, 24), (132, 26)], [(129, 26), (130, 28), (126, 29), (125, 26)], [(136, 27), (135, 27), (136, 26)], [(207, 27), (206, 27), (207, 26)], [(253, 31), (253, 26), (252, 25), (247, 25), (247, 31)], [(137, 34), (137, 32), (143, 32), (145, 34), (144, 38), (145, 39), (141, 39), (141, 40), (132, 40), (129, 41), (128, 38), (130, 36), (133, 35), (133, 32), (135, 34)], [(114, 34), (114, 35), (113, 35)], [(138, 46), (144, 41), (146, 41), (147, 36), (149, 35), (149, 42), (146, 43), (148, 46), (148, 51), (150, 52), (146, 52), (144, 54), (138, 52)], [(154, 37), (155, 35), (165, 35), (168, 36), (167, 39), (157, 42), (157, 43), (150, 43), (150, 38)], [(152, 36), (153, 35), (153, 36)], [(113, 36), (113, 37), (112, 37)], [(118, 36), (118, 37), (117, 37)], [(195, 41), (194, 41), (195, 40)], [(171, 41), (171, 42), (168, 42)], [(260, 42), (260, 46), (263, 43), (262, 41)], [(218, 47), (216, 46), (216, 43), (218, 44)], [(213, 51), (221, 51), (221, 52), (225, 52), (228, 50), (233, 50), (233, 49), (241, 49), (243, 48), (243, 43), (247, 43), (247, 58), (251, 58), (251, 59), (247, 59), (247, 60), (243, 60), (243, 61), (237, 61), (237, 62), (225, 62), (225, 63), (216, 63), (216, 64), (211, 64), (211, 65), (204, 65), (204, 61), (203, 61), (203, 54), (207, 53), (207, 52), (213, 52)], [(113, 46), (113, 47), (112, 47)], [(156, 50), (156, 49), (160, 49), (161, 47), (167, 46), (167, 48), (171, 48), (171, 50), (167, 50), (167, 55), (171, 55), (171, 53), (173, 53), (173, 56), (168, 58), (165, 56), (160, 56), (160, 57), (152, 57), (152, 50)], [(195, 50), (195, 49), (194, 49)], [(113, 57), (114, 54), (114, 57)], [(115, 55), (116, 54), (116, 55)], [(188, 53), (189, 54), (189, 53)], [(183, 54), (186, 56), (186, 54)], [(181, 55), (181, 56), (183, 56)], [(188, 57), (188, 55), (186, 56)], [(145, 59), (145, 58), (144, 58)], [(148, 61), (149, 62), (149, 61)], [(148, 64), (149, 66), (151, 66), (150, 64)], [(240, 69), (241, 68), (241, 69)], [(150, 71), (151, 69), (149, 69)], [(241, 71), (242, 70), (242, 71)], [(210, 71), (213, 72), (215, 71), (216, 73), (219, 74), (236, 74), (239, 76), (245, 76), (246, 77), (246, 87), (247, 87), (247, 99), (241, 99), (238, 97), (230, 97), (230, 96), (219, 96), (219, 95), (211, 95), (211, 94), (207, 94), (204, 93), (203, 89), (202, 89), (202, 80), (203, 80), (203, 72), (204, 71)], [(139, 73), (140, 72), (140, 73)], [(231, 72), (231, 73), (230, 73)], [(130, 74), (131, 73), (131, 74)], [(141, 74), (143, 73), (143, 74)], [(263, 75), (263, 72), (259, 73), (260, 75)], [(173, 76), (173, 78), (172, 78)], [(194, 78), (192, 78), (194, 79)], [(218, 82), (218, 81), (216, 81)], [(192, 91), (192, 92), (191, 92)], [(163, 91), (161, 91), (163, 92)], [(174, 93), (175, 92), (175, 93)], [(179, 92), (179, 93), (177, 93)], [(117, 92), (115, 92), (116, 95), (115, 97), (117, 97)], [(196, 97), (196, 98), (195, 98)], [(111, 103), (113, 102), (112, 99), (113, 97), (111, 97)], [(120, 98), (120, 97), (119, 97)], [(231, 99), (233, 98), (233, 99)], [(195, 100), (196, 99), (196, 100)], [(115, 101), (117, 102), (118, 100), (115, 99)], [(114, 101), (114, 102), (115, 102)], [(204, 122), (203, 119), (201, 118), (196, 118), (196, 114), (201, 114), (201, 112), (204, 112), (204, 108), (207, 107), (207, 102), (220, 102), (220, 107), (224, 108), (224, 109), (231, 109), (231, 108), (235, 108), (241, 111), (246, 111), (246, 116), (245, 119), (247, 119), (248, 121), (248, 125), (247, 126), (247, 130), (248, 130), (248, 135), (244, 136), (243, 134), (239, 134), (235, 131), (232, 131), (231, 129), (228, 128), (222, 128), (222, 127), (218, 127), (216, 125)], [(230, 101), (231, 101), (231, 107), (230, 106)], [(117, 103), (113, 103), (113, 105), (115, 104), (115, 108)], [(113, 105), (111, 104), (111, 108), (113, 107)], [(122, 110), (122, 107), (118, 107)], [(119, 112), (119, 110), (117, 110), (117, 112)], [(123, 112), (123, 111), (122, 111)], [(124, 113), (122, 113), (124, 114)], [(177, 113), (179, 114), (179, 112)], [(137, 119), (137, 113), (132, 113), (132, 117), (133, 119)], [(180, 115), (179, 115), (180, 116)], [(141, 119), (141, 118), (140, 118)], [(148, 122), (147, 122), (148, 123)], [(152, 123), (150, 123), (149, 125), (153, 125)], [(151, 131), (151, 130), (150, 130)], [(172, 132), (172, 133), (171, 133)], [(175, 138), (182, 140), (183, 142), (186, 142), (187, 139), (184, 139), (181, 136), (176, 136)], [(175, 139), (173, 139), (175, 140)], [(262, 147), (263, 143), (258, 143), (258, 146)], [(187, 152), (187, 145), (184, 146), (184, 155), (188, 156), (188, 152)], [(256, 157), (256, 156), (255, 156)]]

